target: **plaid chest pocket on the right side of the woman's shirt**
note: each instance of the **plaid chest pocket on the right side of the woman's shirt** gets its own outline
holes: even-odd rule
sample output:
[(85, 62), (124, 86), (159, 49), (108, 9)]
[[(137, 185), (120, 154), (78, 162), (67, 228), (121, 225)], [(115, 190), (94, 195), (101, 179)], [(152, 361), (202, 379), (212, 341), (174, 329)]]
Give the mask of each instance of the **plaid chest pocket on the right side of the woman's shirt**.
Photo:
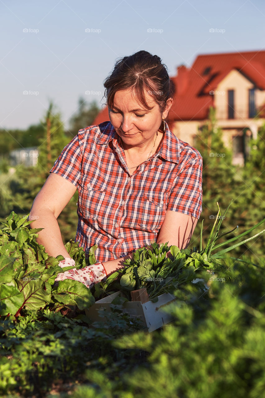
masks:
[(144, 193), (138, 225), (147, 232), (159, 232), (166, 217), (166, 193)]

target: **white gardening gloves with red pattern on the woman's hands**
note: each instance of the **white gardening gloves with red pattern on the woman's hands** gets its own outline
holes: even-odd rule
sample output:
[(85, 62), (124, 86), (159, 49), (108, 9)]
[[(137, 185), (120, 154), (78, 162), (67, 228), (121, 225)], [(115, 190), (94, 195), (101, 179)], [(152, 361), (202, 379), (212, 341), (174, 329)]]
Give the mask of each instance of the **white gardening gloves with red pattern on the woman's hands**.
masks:
[[(69, 267), (70, 265), (76, 265), (74, 259), (65, 258), (58, 264), (60, 267)], [(107, 273), (102, 263), (98, 262), (93, 265), (87, 265), (81, 269), (69, 269), (68, 271), (61, 272), (55, 278), (55, 281), (64, 281), (64, 279), (72, 279), (83, 283), (88, 289), (94, 286), (94, 283), (100, 282), (107, 279)]]

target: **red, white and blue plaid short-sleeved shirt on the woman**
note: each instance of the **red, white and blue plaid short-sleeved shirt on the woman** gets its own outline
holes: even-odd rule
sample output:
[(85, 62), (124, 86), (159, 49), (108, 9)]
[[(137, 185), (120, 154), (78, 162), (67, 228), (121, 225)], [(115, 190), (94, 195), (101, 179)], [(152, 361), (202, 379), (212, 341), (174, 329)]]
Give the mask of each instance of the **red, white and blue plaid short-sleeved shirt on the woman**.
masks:
[(88, 126), (67, 144), (50, 172), (78, 189), (75, 242), (97, 244), (97, 261), (156, 242), (166, 211), (199, 219), (202, 157), (168, 128), (153, 154), (130, 176), (121, 139), (109, 121)]

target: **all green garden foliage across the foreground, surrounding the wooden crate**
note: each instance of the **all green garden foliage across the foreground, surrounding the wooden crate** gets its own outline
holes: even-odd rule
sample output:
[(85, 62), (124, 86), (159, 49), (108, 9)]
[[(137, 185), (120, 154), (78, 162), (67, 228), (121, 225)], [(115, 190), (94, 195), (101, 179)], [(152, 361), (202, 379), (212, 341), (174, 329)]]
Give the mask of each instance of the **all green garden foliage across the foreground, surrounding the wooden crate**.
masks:
[[(217, 220), (205, 248), (179, 250), (154, 243), (138, 249), (107, 286), (108, 279), (90, 291), (72, 280), (53, 286), (62, 256), (48, 256), (36, 242), (39, 229), (30, 230), (27, 217), (12, 212), (0, 234), (1, 396), (262, 396), (265, 265), (220, 254), (225, 245), (214, 253)], [(86, 266), (77, 243), (65, 247), (77, 268)], [(159, 276), (164, 283), (157, 281)], [(208, 289), (196, 283), (197, 277)], [(186, 305), (168, 304), (164, 310), (175, 319), (150, 334), (123, 312), (122, 302), (113, 303), (110, 313), (101, 310), (105, 322), (91, 324), (86, 318), (84, 308), (99, 293), (130, 293), (138, 287), (147, 287), (154, 298), (169, 289)], [(63, 316), (63, 308), (72, 306), (79, 308), (76, 318)]]

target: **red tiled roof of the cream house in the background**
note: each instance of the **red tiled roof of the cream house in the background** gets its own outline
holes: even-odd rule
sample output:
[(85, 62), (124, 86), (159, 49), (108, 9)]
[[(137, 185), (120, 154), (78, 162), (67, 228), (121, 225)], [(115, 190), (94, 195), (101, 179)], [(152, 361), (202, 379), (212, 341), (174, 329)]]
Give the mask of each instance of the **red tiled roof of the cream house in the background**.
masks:
[[(207, 68), (208, 73), (203, 74)], [(257, 88), (265, 90), (265, 51), (198, 55), (191, 68), (181, 65), (176, 76), (171, 77), (176, 90), (168, 115), (169, 125), (174, 120), (207, 119), (209, 107), (214, 105), (210, 91), (215, 91), (232, 69), (240, 71)], [(109, 115), (104, 108), (94, 124), (107, 120)]]

